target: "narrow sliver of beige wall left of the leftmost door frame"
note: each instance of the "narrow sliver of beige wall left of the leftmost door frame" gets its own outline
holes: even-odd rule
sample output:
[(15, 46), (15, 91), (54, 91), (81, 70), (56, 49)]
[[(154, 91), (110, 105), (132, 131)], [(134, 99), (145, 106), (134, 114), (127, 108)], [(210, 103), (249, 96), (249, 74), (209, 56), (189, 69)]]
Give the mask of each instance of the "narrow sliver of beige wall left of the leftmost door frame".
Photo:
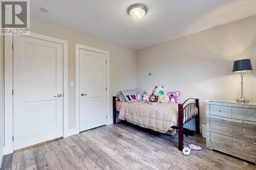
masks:
[(4, 36), (0, 36), (0, 159), (4, 148)]

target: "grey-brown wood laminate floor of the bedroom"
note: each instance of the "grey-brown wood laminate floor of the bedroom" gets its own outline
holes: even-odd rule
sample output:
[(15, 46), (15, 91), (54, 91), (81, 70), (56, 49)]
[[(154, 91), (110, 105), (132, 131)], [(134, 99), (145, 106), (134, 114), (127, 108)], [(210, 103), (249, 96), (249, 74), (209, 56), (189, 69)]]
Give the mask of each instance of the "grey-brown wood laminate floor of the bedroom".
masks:
[(202, 151), (184, 156), (178, 134), (118, 123), (4, 156), (2, 169), (256, 169), (251, 163), (205, 148), (196, 134), (184, 137)]

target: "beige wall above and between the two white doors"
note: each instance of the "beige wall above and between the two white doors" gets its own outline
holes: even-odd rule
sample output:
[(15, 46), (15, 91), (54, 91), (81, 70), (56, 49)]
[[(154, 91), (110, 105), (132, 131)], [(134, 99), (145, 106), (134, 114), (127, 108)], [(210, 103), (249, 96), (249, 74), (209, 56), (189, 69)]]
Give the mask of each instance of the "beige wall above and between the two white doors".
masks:
[[(110, 94), (121, 89), (137, 87), (136, 51), (110, 42), (100, 40), (87, 34), (78, 33), (47, 22), (31, 20), (31, 32), (43, 34), (69, 42), (69, 81), (75, 82), (75, 43), (80, 43), (110, 52)], [(112, 98), (111, 98), (112, 99)], [(112, 100), (111, 110), (112, 110)], [(69, 87), (69, 128), (74, 127), (75, 87)]]

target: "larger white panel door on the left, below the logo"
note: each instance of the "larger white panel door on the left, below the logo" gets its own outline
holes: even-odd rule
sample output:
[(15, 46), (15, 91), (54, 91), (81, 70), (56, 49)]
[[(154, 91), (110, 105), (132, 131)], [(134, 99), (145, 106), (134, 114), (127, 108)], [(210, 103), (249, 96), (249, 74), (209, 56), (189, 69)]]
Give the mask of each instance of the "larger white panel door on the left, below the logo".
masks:
[(63, 134), (63, 46), (27, 36), (13, 37), (13, 135), (17, 150)]

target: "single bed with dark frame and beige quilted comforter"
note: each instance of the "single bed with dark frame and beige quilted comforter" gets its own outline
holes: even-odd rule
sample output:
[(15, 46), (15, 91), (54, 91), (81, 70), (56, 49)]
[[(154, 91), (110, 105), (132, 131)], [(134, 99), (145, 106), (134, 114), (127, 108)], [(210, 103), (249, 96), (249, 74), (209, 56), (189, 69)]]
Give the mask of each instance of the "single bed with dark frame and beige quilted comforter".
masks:
[(118, 102), (117, 96), (113, 96), (113, 124), (116, 123), (118, 115), (121, 120), (161, 133), (178, 129), (180, 151), (183, 149), (184, 124), (195, 118), (196, 133), (200, 133), (199, 99), (189, 98), (183, 104), (157, 103), (151, 105), (146, 101), (122, 102), (120, 110), (117, 110), (117, 105), (120, 104)]

